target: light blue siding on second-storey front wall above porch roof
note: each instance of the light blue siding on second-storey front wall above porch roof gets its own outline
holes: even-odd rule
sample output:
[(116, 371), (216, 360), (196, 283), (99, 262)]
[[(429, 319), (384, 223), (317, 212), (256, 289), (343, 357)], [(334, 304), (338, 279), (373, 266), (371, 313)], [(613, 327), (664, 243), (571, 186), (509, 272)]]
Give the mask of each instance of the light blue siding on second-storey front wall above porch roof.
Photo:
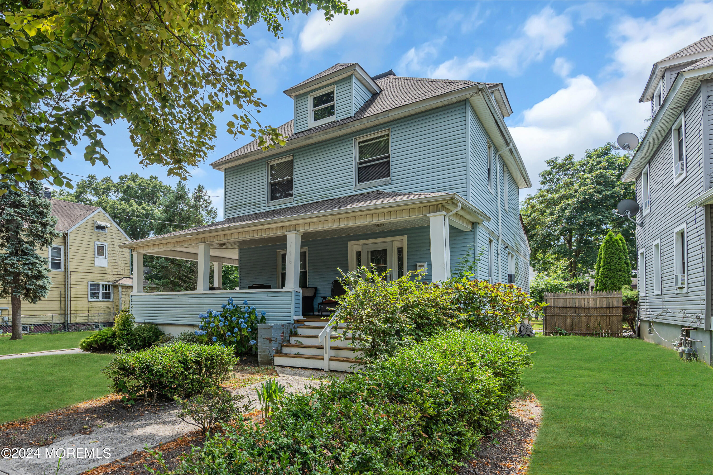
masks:
[[(293, 204), (343, 197), (373, 189), (387, 192), (458, 192), (465, 196), (465, 115), (463, 103), (448, 105), (394, 120), (359, 134), (345, 135), (294, 150)], [(355, 191), (354, 137), (389, 127), (391, 184)], [(267, 208), (266, 161), (256, 160), (225, 170), (226, 218)], [(329, 179), (326, 179), (325, 171), (328, 171)]]

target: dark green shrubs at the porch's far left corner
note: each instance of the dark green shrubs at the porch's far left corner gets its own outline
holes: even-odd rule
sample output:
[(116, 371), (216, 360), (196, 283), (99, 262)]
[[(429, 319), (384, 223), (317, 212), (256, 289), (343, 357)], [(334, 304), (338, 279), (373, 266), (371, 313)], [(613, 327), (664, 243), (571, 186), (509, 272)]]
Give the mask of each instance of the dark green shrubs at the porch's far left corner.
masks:
[(148, 348), (158, 343), (163, 331), (153, 323), (136, 324), (128, 312), (121, 312), (114, 318), (114, 326), (99, 330), (79, 342), (84, 351), (133, 351)]

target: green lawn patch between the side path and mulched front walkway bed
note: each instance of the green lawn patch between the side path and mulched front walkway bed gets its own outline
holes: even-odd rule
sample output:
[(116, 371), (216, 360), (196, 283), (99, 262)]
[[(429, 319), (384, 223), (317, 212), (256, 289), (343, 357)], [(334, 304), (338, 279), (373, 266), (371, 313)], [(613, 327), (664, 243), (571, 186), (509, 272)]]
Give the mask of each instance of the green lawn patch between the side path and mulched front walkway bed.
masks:
[(112, 355), (53, 355), (0, 361), (0, 424), (107, 395), (101, 372)]

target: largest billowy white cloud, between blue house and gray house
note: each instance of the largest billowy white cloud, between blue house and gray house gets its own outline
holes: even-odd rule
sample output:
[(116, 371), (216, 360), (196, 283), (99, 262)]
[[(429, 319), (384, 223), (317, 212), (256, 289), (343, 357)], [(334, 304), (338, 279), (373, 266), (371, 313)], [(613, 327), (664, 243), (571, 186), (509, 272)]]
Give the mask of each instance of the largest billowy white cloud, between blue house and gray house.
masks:
[[(564, 88), (526, 110), (522, 123), (510, 129), (535, 187), (548, 158), (580, 157), (621, 132), (638, 135), (650, 116), (650, 105), (638, 100), (652, 64), (710, 34), (713, 4), (680, 4), (651, 19), (617, 18), (609, 35), (615, 51), (600, 84), (585, 75), (565, 78)], [(559, 60), (553, 71), (568, 75)]]

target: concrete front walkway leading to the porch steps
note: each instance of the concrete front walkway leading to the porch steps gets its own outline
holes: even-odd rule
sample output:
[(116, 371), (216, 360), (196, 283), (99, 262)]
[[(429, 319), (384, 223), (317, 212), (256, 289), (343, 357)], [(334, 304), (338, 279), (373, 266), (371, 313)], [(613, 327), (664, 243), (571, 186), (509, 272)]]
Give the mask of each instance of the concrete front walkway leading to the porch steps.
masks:
[[(45, 352), (46, 354), (47, 352)], [(284, 385), (286, 393), (308, 392), (314, 385), (322, 384), (320, 379), (326, 377), (343, 378), (341, 372), (324, 372), (317, 370), (297, 370), (295, 368), (276, 366), (279, 377), (277, 381)], [(255, 400), (253, 408), (257, 409), (255, 388), (262, 382), (234, 390)], [(7, 475), (49, 475), (55, 474), (58, 454), (63, 455), (58, 475), (78, 475), (95, 466), (108, 464), (111, 461), (123, 459), (135, 450), (163, 444), (176, 439), (186, 432), (196, 429), (195, 426), (183, 422), (176, 417), (178, 409), (170, 409), (157, 414), (145, 414), (138, 420), (107, 424), (95, 429), (91, 434), (81, 434), (75, 437), (60, 439), (44, 447), (34, 447), (32, 458), (24, 454), (24, 458), (0, 458), (0, 474)]]

